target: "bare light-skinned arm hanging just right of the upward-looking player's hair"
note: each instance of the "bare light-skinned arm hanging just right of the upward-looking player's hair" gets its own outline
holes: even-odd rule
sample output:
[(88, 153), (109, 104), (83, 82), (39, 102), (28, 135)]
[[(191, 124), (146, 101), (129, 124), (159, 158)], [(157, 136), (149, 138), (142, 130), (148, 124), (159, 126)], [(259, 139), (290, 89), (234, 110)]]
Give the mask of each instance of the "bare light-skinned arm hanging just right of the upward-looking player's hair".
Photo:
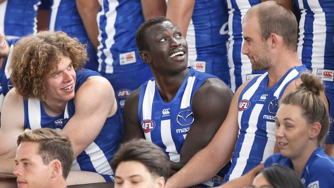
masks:
[(187, 36), (187, 30), (193, 15), (195, 0), (169, 0), (167, 5), (166, 17), (174, 24), (179, 26), (184, 37)]

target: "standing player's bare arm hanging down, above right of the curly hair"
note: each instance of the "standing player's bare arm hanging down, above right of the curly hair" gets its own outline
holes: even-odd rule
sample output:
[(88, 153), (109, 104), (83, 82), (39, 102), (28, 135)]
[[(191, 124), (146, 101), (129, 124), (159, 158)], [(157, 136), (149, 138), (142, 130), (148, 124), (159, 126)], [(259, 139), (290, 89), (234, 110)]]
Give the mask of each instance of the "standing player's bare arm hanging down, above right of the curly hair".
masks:
[(97, 50), (99, 46), (99, 28), (96, 16), (99, 12), (100, 4), (97, 0), (76, 0), (76, 3), (89, 40), (95, 50)]

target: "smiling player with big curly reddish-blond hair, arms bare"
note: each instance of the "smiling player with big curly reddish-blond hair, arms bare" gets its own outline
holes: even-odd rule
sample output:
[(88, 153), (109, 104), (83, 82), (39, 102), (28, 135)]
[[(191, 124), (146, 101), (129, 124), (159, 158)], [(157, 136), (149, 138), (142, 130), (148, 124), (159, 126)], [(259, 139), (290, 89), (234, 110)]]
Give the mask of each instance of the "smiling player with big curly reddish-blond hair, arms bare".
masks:
[[(67, 184), (112, 182), (109, 164), (123, 133), (112, 85), (82, 69), (86, 49), (64, 32), (39, 32), (18, 41), (12, 52), (11, 89), (0, 129), (1, 174), (14, 166), (15, 136), (24, 129), (55, 128), (69, 137), (75, 161)], [(6, 156), (6, 157), (3, 157)]]

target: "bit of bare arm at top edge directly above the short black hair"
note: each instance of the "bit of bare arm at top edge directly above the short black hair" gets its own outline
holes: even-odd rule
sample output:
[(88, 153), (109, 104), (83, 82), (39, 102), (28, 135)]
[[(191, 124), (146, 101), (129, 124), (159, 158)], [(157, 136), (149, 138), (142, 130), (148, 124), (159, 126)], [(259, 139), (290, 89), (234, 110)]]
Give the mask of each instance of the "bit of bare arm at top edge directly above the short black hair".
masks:
[(165, 0), (141, 0), (141, 7), (145, 21), (155, 16), (166, 15), (166, 2)]

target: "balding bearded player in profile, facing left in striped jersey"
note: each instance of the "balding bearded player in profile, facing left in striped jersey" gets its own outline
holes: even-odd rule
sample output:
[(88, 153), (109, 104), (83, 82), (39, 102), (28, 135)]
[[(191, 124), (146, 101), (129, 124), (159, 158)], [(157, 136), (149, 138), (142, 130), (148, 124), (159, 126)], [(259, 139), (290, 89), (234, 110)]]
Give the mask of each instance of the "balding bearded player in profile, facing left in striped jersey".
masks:
[[(230, 160), (232, 152), (225, 179), (235, 179), (274, 153), (277, 104), (295, 89), (300, 74), (307, 70), (293, 47), (297, 29), (294, 14), (280, 3), (269, 1), (249, 9), (243, 20), (242, 52), (253, 70), (267, 72), (239, 87), (215, 137), (166, 186), (187, 187), (211, 177)], [(293, 36), (295, 40), (291, 40)], [(322, 97), (325, 99), (324, 93)]]

